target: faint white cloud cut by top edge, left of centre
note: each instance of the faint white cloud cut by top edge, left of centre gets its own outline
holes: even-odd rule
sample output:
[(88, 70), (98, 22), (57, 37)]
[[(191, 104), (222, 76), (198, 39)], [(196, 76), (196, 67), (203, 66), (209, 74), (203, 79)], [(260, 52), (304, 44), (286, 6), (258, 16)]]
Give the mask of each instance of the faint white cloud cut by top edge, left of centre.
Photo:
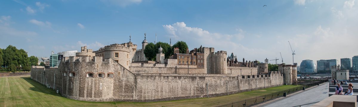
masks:
[(121, 7), (126, 7), (131, 4), (140, 4), (142, 0), (100, 0), (107, 5), (118, 5)]

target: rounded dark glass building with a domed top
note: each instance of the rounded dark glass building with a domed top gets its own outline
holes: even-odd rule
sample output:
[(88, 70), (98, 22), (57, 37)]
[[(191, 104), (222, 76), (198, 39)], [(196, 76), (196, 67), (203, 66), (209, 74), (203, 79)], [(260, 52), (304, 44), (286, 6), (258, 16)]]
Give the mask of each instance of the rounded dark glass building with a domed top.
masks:
[(303, 60), (300, 64), (300, 72), (302, 73), (314, 73), (317, 72), (316, 63), (312, 60)]

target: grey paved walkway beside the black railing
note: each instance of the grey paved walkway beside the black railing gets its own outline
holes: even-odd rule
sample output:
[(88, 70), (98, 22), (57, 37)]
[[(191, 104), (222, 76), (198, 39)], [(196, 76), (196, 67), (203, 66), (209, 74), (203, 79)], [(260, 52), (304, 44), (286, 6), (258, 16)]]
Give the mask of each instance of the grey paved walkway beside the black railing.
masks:
[[(298, 105), (304, 105), (313, 102), (322, 101), (324, 98), (328, 97), (328, 82), (323, 83), (318, 87), (311, 88), (310, 90), (303, 91), (296, 95), (288, 96), (277, 100), (275, 102), (263, 105), (263, 107), (293, 107)], [(305, 105), (301, 107), (310, 107), (313, 104)]]

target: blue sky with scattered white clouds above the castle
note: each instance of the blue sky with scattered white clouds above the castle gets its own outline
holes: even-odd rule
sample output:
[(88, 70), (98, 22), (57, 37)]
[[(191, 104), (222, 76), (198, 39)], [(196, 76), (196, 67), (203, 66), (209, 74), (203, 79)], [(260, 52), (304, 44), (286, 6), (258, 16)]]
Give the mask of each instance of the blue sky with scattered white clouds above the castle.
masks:
[[(0, 48), (29, 55), (129, 41), (186, 41), (262, 61), (358, 55), (358, 0), (1, 0)], [(262, 7), (263, 5), (267, 5)], [(275, 63), (271, 61), (271, 63)], [(338, 63), (339, 64), (339, 63)]]

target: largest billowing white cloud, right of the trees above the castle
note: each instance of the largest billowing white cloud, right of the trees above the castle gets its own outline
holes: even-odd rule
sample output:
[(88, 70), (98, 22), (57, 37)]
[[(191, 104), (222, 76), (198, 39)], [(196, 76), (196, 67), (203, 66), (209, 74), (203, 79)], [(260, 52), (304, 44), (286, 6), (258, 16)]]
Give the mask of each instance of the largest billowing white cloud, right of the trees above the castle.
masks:
[[(242, 29), (236, 29), (237, 34), (219, 34), (211, 33), (198, 27), (188, 27), (184, 22), (176, 22), (171, 25), (163, 25), (167, 34), (178, 41), (187, 42), (190, 49), (200, 47), (214, 47), (215, 51), (234, 52), (238, 55), (246, 57), (247, 60), (255, 60), (254, 57), (247, 57), (247, 55), (264, 55), (272, 53), (259, 48), (247, 48), (240, 44), (246, 35)], [(260, 52), (260, 53), (258, 53)], [(245, 54), (245, 55), (244, 55)]]

